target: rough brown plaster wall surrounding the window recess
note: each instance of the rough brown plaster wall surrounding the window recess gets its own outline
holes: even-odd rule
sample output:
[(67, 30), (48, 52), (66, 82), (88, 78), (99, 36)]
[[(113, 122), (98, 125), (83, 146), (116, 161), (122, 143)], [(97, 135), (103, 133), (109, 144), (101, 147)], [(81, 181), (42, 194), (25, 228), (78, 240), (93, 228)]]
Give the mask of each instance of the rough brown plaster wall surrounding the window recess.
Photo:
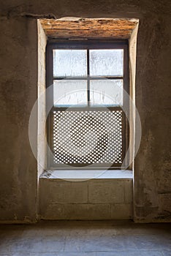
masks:
[(37, 163), (28, 118), (37, 98), (36, 18), (140, 18), (136, 104), (142, 141), (134, 165), (134, 219), (171, 219), (171, 2), (1, 1), (0, 219), (36, 217)]

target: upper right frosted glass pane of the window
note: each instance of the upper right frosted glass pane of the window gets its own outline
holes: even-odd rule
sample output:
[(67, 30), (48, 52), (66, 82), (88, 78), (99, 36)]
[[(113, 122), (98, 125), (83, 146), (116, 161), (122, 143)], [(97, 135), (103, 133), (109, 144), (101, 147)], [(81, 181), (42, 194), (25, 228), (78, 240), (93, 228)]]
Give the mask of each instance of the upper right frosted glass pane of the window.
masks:
[(123, 76), (123, 49), (90, 50), (90, 75)]

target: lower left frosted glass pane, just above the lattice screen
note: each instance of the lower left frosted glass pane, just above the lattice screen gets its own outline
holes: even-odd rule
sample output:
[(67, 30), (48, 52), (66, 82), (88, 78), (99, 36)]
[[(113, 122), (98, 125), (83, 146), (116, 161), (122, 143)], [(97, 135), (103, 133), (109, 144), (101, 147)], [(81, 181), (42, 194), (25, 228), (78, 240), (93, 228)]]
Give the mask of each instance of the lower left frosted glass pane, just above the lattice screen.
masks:
[(55, 107), (87, 105), (86, 80), (55, 80), (53, 82), (53, 103)]

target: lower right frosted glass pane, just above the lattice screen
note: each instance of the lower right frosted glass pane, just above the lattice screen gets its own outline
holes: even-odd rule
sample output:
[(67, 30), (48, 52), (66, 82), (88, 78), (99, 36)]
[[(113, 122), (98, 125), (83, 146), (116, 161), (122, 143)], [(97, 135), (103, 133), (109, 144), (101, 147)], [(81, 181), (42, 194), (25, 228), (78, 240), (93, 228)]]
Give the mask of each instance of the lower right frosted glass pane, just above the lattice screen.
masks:
[(123, 80), (91, 80), (91, 106), (123, 105)]

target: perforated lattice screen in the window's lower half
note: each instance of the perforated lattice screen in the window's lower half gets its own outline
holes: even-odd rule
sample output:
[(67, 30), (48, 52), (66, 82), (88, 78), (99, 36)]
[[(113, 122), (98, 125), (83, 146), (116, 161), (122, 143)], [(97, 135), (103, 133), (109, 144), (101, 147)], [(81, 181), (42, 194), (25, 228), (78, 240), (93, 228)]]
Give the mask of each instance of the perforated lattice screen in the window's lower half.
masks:
[(53, 162), (122, 163), (122, 110), (53, 111)]

